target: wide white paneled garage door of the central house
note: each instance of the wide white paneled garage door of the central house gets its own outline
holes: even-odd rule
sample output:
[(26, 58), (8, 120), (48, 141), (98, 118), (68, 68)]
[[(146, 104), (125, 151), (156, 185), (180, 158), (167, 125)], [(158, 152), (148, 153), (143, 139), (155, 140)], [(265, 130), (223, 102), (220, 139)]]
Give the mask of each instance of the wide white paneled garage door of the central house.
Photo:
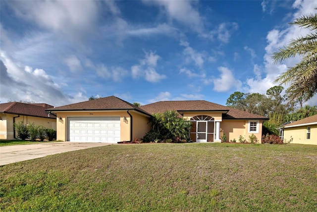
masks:
[(120, 117), (68, 117), (68, 141), (117, 143)]

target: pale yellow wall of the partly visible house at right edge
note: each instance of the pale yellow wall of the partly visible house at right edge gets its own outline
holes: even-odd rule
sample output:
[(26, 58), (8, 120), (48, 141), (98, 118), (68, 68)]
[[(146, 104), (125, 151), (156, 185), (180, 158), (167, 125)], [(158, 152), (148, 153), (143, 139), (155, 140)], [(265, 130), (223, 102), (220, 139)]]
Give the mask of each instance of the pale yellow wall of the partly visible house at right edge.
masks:
[[(311, 127), (311, 138), (306, 139), (306, 128)], [(284, 141), (293, 139), (291, 144), (313, 144), (317, 145), (317, 124), (299, 127), (284, 128)]]

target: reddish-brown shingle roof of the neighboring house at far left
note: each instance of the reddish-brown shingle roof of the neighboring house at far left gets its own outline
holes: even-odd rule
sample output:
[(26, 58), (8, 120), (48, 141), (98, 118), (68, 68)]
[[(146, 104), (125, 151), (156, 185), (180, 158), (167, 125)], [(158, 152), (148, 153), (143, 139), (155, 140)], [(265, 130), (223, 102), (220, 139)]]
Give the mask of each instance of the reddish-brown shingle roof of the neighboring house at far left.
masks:
[[(46, 105), (46, 104), (40, 104)], [(47, 105), (48, 106), (48, 105)], [(17, 114), (17, 115), (29, 115), (43, 118), (56, 118), (55, 116), (48, 117), (45, 109), (47, 107), (34, 105), (34, 104), (26, 104), (26, 103), (2, 103), (0, 104), (0, 112)]]

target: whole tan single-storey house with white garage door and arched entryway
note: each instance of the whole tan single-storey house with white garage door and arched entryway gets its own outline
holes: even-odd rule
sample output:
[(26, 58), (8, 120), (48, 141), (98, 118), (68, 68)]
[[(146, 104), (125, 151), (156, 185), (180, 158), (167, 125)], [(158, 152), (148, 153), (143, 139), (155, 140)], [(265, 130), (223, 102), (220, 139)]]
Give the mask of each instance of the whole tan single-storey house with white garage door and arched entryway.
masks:
[(57, 140), (77, 142), (131, 141), (151, 130), (151, 114), (176, 110), (192, 122), (190, 137), (194, 142), (220, 142), (243, 136), (262, 136), (261, 115), (221, 106), (207, 101), (162, 101), (134, 106), (117, 97), (76, 103), (47, 109), (57, 116)]

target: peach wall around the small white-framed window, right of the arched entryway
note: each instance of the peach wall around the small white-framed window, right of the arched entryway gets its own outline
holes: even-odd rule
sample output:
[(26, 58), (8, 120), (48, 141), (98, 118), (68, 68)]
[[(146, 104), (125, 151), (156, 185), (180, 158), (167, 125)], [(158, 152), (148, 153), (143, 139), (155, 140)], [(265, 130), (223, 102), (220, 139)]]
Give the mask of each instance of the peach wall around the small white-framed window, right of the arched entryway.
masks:
[(259, 131), (258, 133), (249, 133), (249, 120), (223, 120), (220, 123), (220, 137), (223, 136), (223, 133), (227, 137), (227, 142), (233, 139), (236, 139), (236, 142), (239, 142), (240, 135), (244, 136), (244, 138), (249, 142), (249, 136), (254, 134), (259, 143), (261, 143), (262, 139), (262, 120), (259, 120)]

